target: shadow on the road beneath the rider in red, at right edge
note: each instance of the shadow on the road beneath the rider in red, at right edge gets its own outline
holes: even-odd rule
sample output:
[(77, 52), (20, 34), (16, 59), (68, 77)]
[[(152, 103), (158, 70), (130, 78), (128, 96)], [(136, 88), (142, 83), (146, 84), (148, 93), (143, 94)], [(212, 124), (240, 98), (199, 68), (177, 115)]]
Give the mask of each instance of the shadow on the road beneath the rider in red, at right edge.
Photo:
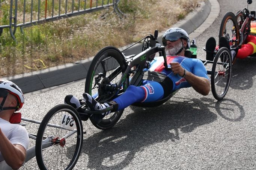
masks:
[(237, 59), (235, 64), (232, 65), (230, 87), (239, 90), (250, 89), (253, 85), (252, 77), (256, 75), (255, 65), (256, 57)]

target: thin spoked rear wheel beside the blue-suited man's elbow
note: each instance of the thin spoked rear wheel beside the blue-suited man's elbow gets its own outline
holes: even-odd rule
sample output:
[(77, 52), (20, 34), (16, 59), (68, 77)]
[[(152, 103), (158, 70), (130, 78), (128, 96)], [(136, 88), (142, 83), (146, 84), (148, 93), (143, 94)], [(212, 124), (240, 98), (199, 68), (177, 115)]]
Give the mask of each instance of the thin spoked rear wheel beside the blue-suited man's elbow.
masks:
[(214, 58), (211, 72), (212, 95), (218, 101), (223, 99), (231, 80), (231, 55), (226, 47), (220, 48)]

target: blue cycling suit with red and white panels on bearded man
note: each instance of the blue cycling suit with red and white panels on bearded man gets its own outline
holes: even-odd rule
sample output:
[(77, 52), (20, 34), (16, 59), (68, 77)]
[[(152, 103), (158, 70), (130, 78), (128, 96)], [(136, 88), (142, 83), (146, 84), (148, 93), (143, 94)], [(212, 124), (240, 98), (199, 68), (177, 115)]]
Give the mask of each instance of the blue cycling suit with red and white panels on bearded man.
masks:
[[(192, 74), (199, 77), (205, 77), (209, 80), (206, 68), (199, 59), (191, 59), (182, 56), (167, 56), (167, 63), (169, 67), (171, 62), (178, 62), (181, 67)], [(164, 74), (170, 78), (170, 80), (173, 82), (171, 92), (177, 89), (191, 87), (185, 78), (182, 78), (178, 74), (174, 75), (172, 70), (166, 70), (163, 64), (164, 58), (157, 57), (151, 62), (151, 66), (147, 71), (160, 72), (161, 74)], [(126, 91), (121, 96), (113, 100), (118, 103), (118, 110), (124, 109), (135, 102), (153, 102), (163, 98), (164, 89), (160, 83), (156, 81), (144, 80), (142, 84), (143, 85), (139, 87), (133, 85), (128, 86)]]

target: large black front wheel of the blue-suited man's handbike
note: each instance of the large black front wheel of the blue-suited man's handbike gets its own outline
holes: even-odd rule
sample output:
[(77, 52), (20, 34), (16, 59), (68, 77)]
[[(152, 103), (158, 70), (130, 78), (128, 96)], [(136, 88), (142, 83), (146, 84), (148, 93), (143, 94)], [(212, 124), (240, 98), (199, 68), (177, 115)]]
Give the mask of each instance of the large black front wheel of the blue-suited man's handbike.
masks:
[[(104, 65), (104, 67), (102, 67)], [(107, 66), (107, 67), (105, 67)], [(93, 58), (92, 63), (90, 64), (89, 71), (86, 76), (85, 81), (85, 92), (92, 95), (93, 93), (98, 95), (96, 101), (111, 101), (113, 99), (113, 93), (116, 91), (107, 91), (106, 88), (103, 88), (106, 85), (117, 84), (119, 81), (119, 77), (123, 74), (127, 67), (126, 61), (120, 50), (116, 47), (107, 46), (101, 49)], [(113, 75), (111, 78), (107, 77), (113, 73), (113, 70), (118, 70), (118, 74)], [(105, 75), (103, 76), (101, 82), (99, 84), (95, 83), (97, 77), (95, 75), (99, 74)], [(126, 90), (129, 84), (129, 77), (125, 77), (123, 80), (123, 92)], [(92, 91), (94, 92), (92, 93)], [(112, 96), (112, 97), (111, 97)], [(90, 117), (90, 121), (92, 124), (101, 130), (106, 130), (113, 127), (117, 121), (120, 119), (123, 113), (123, 109), (117, 112), (110, 113), (106, 115), (99, 123), (96, 123), (92, 117)]]

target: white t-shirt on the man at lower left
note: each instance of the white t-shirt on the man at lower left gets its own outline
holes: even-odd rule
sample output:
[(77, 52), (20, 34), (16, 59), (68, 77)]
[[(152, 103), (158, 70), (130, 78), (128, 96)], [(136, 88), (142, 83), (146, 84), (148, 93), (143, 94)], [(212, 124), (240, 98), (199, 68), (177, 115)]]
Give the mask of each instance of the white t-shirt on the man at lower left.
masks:
[[(11, 124), (9, 121), (0, 118), (0, 128), (12, 144), (22, 145), (27, 150), (29, 147), (29, 135), (25, 127), (19, 124)], [(0, 161), (4, 161), (1, 152)]]

